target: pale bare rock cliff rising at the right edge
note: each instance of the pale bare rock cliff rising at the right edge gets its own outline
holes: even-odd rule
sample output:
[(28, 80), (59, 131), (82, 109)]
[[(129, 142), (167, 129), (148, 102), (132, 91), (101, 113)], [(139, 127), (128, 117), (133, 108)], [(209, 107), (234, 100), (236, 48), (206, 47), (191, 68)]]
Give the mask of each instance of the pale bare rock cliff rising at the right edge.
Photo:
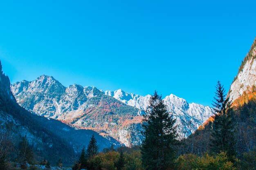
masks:
[(256, 39), (230, 86), (230, 99), (234, 101), (244, 92), (249, 91), (252, 86), (256, 86)]

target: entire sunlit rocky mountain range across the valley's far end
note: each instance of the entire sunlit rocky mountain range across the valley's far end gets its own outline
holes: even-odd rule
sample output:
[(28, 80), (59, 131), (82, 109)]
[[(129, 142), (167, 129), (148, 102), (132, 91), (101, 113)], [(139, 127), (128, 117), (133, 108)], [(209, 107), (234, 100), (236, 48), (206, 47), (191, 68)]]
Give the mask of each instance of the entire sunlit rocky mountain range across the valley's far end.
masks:
[[(63, 86), (52, 76), (11, 85), (18, 104), (36, 115), (60, 120), (77, 129), (91, 129), (130, 146), (141, 142), (141, 121), (150, 95), (139, 96), (122, 90), (103, 91), (94, 86)], [(177, 124), (194, 131), (211, 116), (211, 108), (188, 104), (175, 95), (164, 98)], [(133, 135), (133, 136), (132, 136)], [(136, 139), (134, 139), (136, 138)]]

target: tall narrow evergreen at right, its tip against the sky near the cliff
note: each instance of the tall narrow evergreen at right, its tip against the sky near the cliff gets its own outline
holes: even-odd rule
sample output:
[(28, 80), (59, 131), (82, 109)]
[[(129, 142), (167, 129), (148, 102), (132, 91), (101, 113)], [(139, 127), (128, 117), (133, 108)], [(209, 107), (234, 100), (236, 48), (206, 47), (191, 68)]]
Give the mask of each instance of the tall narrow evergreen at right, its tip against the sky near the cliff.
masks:
[(220, 84), (220, 81), (217, 82), (215, 94), (215, 101), (213, 101), (215, 119), (213, 121), (211, 148), (213, 152), (227, 152), (227, 156), (231, 159), (231, 157), (236, 156), (235, 128), (231, 117), (231, 102), (229, 97), (226, 97), (225, 89)]

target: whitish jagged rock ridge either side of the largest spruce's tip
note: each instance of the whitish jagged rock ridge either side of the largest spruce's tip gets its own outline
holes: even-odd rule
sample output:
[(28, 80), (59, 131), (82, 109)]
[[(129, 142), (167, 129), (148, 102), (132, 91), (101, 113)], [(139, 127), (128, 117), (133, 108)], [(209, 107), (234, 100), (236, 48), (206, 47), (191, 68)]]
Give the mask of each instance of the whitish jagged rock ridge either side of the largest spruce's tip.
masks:
[[(121, 89), (117, 91), (106, 91), (105, 94), (115, 97), (125, 104), (143, 110), (146, 110), (151, 97), (151, 95), (140, 96), (133, 93), (127, 93)], [(174, 117), (177, 118), (177, 124), (184, 124), (184, 126), (187, 127), (191, 126), (189, 123), (192, 123), (192, 131), (213, 115), (213, 110), (209, 106), (202, 106), (195, 103), (189, 104), (185, 99), (173, 94), (166, 96), (163, 100), (168, 111), (173, 113)]]

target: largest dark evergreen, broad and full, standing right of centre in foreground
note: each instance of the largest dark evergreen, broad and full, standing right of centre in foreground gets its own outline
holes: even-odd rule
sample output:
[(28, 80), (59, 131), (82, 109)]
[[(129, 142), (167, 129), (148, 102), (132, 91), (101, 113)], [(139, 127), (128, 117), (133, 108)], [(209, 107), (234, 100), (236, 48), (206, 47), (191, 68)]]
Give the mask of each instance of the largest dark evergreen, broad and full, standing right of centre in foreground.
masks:
[(177, 132), (173, 115), (168, 113), (162, 96), (154, 95), (144, 116), (144, 141), (142, 142), (142, 164), (146, 170), (167, 170), (175, 159), (174, 146)]

